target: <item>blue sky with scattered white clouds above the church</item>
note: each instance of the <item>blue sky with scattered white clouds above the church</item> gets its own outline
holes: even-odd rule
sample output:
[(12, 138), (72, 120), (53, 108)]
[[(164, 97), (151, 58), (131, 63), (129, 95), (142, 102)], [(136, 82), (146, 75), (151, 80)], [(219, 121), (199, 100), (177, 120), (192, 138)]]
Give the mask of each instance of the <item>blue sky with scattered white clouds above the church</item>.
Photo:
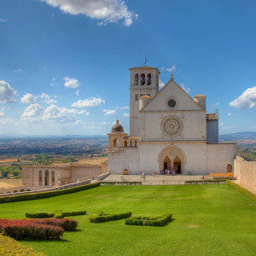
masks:
[(130, 67), (171, 73), (219, 111), (219, 133), (256, 131), (256, 2), (3, 0), (0, 133), (129, 131)]

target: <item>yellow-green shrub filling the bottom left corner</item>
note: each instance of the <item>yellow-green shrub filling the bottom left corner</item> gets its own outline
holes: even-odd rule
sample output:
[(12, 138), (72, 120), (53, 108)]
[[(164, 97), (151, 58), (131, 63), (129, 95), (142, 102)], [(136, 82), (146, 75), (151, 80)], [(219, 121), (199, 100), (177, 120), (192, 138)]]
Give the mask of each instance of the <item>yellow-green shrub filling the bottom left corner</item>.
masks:
[(26, 247), (20, 244), (19, 241), (9, 236), (0, 234), (0, 255), (29, 255), (43, 256), (43, 253), (35, 253), (31, 247)]

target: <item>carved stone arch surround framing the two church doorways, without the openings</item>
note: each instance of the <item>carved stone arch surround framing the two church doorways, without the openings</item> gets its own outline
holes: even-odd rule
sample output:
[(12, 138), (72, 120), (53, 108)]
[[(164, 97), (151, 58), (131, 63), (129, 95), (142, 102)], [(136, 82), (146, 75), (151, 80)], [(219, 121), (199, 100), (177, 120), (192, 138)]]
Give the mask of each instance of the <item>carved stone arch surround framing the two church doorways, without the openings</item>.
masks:
[(158, 162), (159, 162), (159, 172), (162, 172), (165, 168), (165, 160), (166, 158), (171, 161), (171, 168), (174, 168), (174, 164), (177, 163), (177, 159), (179, 160), (178, 170), (181, 174), (184, 173), (186, 158), (183, 150), (178, 148), (177, 146), (171, 145), (163, 148), (159, 154)]

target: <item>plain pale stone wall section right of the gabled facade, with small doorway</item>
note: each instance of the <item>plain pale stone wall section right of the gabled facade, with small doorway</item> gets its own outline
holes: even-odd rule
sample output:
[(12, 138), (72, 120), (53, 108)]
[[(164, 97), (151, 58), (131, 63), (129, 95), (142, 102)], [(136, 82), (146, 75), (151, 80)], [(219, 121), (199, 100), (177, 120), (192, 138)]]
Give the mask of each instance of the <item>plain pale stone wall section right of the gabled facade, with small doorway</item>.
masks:
[(236, 143), (207, 144), (207, 173), (227, 172), (227, 165), (234, 170)]

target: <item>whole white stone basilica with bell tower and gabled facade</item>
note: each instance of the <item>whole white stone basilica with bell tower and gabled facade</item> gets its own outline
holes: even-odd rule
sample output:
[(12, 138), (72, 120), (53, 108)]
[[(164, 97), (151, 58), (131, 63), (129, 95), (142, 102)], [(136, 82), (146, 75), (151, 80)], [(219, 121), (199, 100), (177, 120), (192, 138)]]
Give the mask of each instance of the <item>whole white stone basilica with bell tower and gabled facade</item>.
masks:
[(232, 172), (236, 143), (218, 143), (218, 110), (171, 77), (160, 90), (155, 67), (130, 68), (130, 135), (116, 121), (108, 133), (108, 172), (183, 175)]

